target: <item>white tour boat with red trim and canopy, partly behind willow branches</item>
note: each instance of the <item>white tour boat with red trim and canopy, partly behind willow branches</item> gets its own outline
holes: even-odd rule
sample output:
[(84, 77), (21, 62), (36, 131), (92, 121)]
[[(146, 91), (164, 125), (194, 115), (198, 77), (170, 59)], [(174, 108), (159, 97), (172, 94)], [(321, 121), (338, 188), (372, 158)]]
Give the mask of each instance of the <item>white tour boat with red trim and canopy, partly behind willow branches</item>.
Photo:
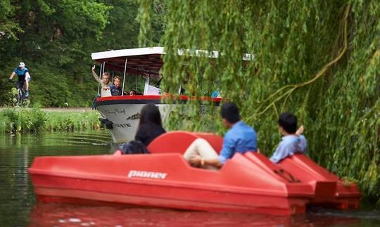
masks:
[[(189, 50), (178, 50), (181, 56)], [(217, 58), (217, 51), (197, 50), (191, 56), (208, 56)], [(91, 58), (101, 64), (100, 74), (118, 71), (124, 72), (122, 81), (122, 91), (125, 93), (125, 76), (136, 75), (144, 78), (144, 93), (137, 96), (107, 96), (99, 97), (94, 100), (94, 107), (101, 113), (101, 122), (110, 130), (115, 143), (124, 143), (134, 139), (139, 124), (139, 112), (147, 103), (153, 103), (160, 109), (165, 122), (172, 108), (176, 105), (184, 105), (188, 96), (175, 96), (176, 102), (168, 103), (158, 87), (150, 84), (152, 80), (159, 81), (161, 78), (160, 68), (163, 66), (163, 47), (151, 48), (130, 48), (116, 51), (103, 51), (92, 53)], [(251, 60), (253, 56), (245, 54), (243, 60)], [(198, 97), (204, 100), (207, 105), (219, 105), (221, 98)], [(202, 105), (200, 113), (207, 111), (207, 105)]]

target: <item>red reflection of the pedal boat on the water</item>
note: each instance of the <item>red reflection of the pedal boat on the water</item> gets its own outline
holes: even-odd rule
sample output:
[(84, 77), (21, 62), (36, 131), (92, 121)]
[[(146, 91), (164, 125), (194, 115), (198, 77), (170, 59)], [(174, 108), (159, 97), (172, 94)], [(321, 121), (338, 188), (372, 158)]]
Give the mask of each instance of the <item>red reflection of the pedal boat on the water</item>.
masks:
[(46, 203), (37, 203), (30, 214), (30, 226), (346, 226), (360, 223), (356, 217), (329, 216), (323, 212), (271, 216)]

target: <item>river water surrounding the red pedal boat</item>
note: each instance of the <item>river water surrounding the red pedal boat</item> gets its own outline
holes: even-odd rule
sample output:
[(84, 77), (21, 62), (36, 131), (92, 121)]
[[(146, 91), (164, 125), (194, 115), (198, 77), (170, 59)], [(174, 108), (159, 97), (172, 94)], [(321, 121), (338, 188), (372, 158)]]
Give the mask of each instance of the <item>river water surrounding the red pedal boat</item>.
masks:
[(27, 174), (34, 157), (112, 151), (107, 131), (0, 134), (0, 226), (380, 226), (380, 211), (372, 208), (272, 216), (36, 201)]

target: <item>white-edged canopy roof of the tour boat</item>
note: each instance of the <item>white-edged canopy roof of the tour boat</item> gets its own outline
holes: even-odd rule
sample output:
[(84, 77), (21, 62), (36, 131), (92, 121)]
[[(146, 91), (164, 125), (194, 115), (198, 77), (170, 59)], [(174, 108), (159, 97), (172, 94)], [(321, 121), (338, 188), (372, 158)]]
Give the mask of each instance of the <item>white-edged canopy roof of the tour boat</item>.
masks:
[[(207, 56), (208, 58), (218, 58), (218, 51), (205, 51), (189, 49), (178, 49), (178, 55), (188, 53), (189, 56)], [(161, 56), (165, 54), (161, 46), (145, 48), (129, 48), (122, 50), (110, 50), (91, 53), (92, 60), (98, 63), (106, 63), (106, 67), (112, 70), (124, 71), (125, 61), (127, 60), (127, 72), (129, 74), (144, 74), (153, 77), (160, 77), (160, 68), (163, 67)], [(253, 60), (254, 56), (250, 53), (243, 55), (243, 60)]]

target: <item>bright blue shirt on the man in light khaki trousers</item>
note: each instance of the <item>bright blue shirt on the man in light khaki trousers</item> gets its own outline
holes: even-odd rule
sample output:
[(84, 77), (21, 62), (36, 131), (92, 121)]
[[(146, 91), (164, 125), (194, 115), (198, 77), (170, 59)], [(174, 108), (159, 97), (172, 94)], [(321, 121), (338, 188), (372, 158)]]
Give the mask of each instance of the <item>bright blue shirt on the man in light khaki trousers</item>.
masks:
[(236, 152), (246, 153), (248, 150), (255, 151), (256, 145), (257, 136), (255, 129), (244, 124), (242, 121), (236, 122), (224, 135), (219, 162), (224, 164), (229, 158), (232, 158)]

